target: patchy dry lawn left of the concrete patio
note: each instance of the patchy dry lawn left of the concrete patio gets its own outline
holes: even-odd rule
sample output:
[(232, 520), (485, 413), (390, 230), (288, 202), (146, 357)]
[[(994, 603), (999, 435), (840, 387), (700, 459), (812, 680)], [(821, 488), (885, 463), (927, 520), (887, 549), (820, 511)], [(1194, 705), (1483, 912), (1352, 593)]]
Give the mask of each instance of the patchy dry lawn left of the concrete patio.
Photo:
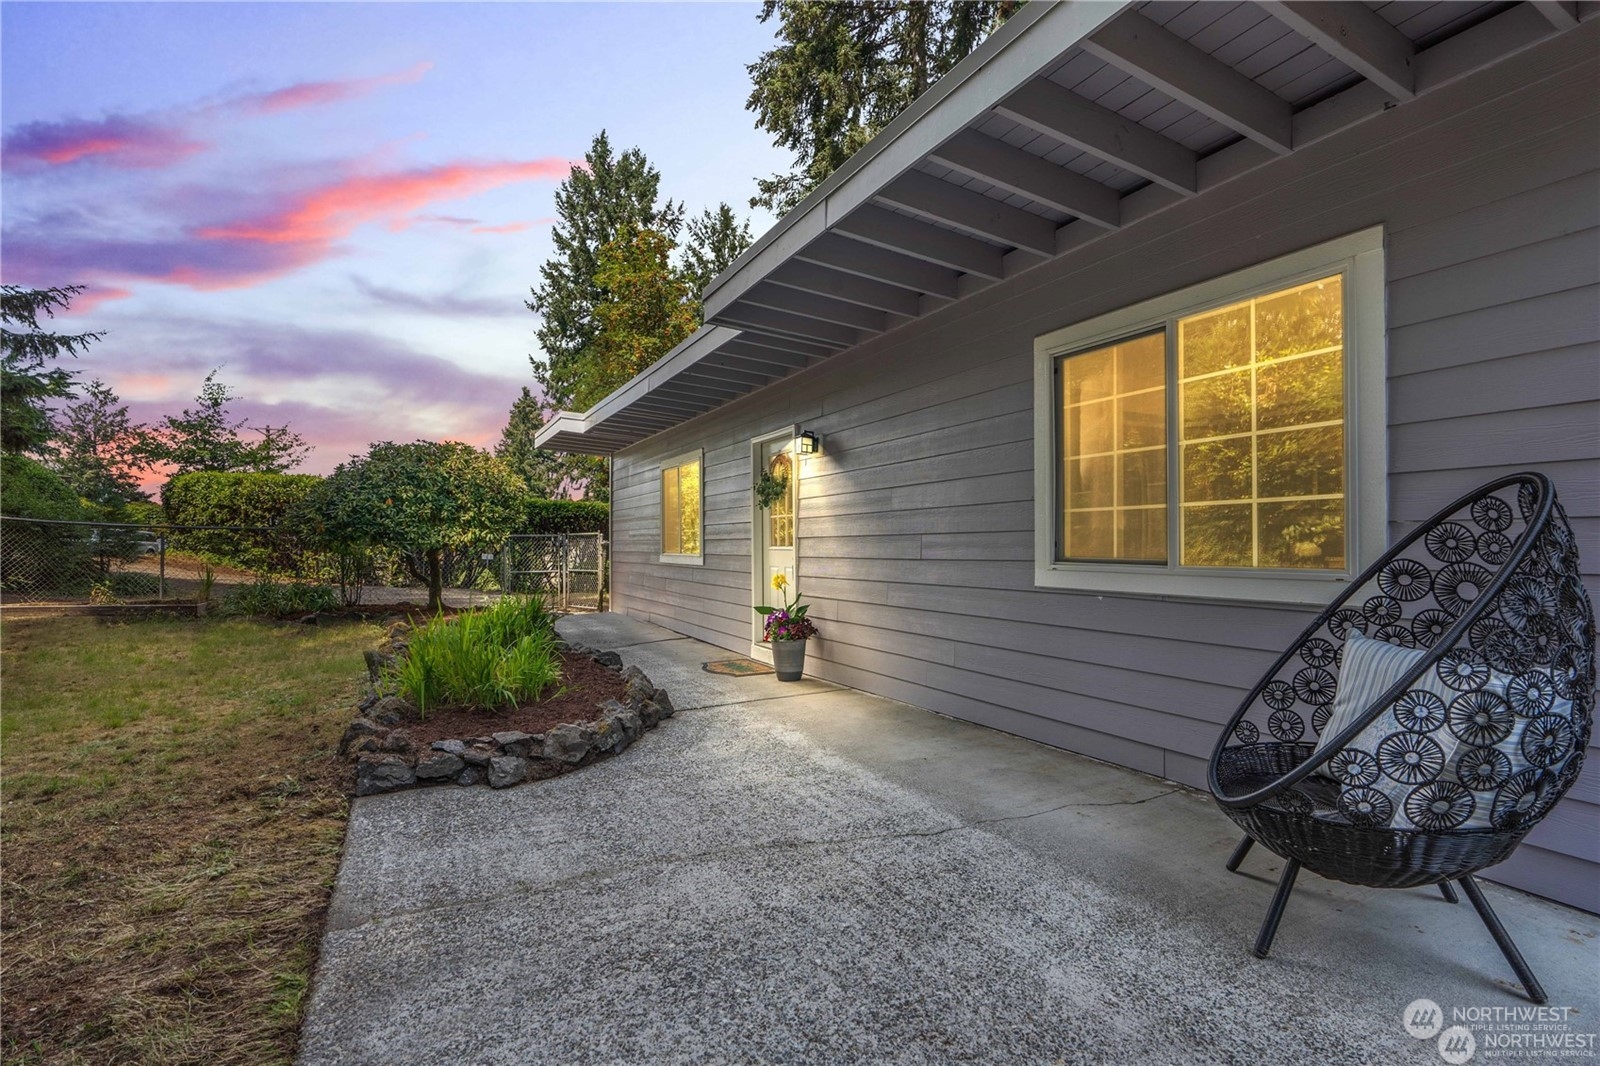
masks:
[(288, 1063), (370, 624), (6, 623), (8, 1063)]

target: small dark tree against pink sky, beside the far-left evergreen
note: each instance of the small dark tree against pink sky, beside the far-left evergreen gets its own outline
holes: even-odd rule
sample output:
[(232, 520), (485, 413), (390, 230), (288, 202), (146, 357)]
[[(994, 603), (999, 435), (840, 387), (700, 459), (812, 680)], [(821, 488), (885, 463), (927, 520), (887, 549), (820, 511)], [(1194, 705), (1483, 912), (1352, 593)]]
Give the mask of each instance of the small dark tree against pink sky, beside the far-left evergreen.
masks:
[(128, 418), (128, 405), (110, 386), (90, 381), (83, 399), (59, 408), (51, 426), (50, 467), (101, 517), (120, 517), (130, 503), (149, 499), (139, 471), (150, 432)]

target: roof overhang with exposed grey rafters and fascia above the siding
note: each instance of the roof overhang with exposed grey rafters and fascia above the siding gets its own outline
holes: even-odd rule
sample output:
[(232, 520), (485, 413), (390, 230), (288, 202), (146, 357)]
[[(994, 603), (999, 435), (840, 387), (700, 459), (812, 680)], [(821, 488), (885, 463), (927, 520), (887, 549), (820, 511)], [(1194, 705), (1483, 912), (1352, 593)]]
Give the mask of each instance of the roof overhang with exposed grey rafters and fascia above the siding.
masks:
[(539, 447), (610, 455), (1434, 91), (1592, 2), (1035, 0)]

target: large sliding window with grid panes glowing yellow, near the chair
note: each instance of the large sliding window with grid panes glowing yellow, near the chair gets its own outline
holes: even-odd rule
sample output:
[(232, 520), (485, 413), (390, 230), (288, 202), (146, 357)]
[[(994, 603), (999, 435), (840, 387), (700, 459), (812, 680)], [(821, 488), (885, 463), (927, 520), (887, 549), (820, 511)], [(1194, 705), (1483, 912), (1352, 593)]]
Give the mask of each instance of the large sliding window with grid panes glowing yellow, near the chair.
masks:
[(1379, 230), (1035, 343), (1037, 584), (1317, 603), (1382, 546)]

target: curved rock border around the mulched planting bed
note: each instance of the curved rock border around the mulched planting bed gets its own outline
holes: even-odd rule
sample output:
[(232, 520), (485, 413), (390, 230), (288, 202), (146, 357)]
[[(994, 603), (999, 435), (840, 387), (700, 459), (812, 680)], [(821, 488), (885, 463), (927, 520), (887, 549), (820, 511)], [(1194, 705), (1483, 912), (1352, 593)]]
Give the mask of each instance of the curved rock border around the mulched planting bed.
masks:
[[(379, 669), (405, 655), (410, 626), (395, 623), (378, 651), (366, 651), (366, 667), (376, 682)], [(629, 744), (675, 712), (667, 690), (651, 683), (645, 671), (622, 666), (616, 651), (582, 643), (557, 642), (557, 650), (587, 655), (627, 680), (622, 699), (595, 704), (586, 722), (554, 725), (544, 733), (502, 731), (488, 736), (434, 741), (419, 751), (405, 731), (414, 707), (398, 696), (371, 691), (357, 717), (339, 738), (339, 759), (355, 762), (355, 795), (379, 795), (432, 784), (486, 784), (506, 789), (526, 781), (571, 773), (598, 759), (621, 754)]]

